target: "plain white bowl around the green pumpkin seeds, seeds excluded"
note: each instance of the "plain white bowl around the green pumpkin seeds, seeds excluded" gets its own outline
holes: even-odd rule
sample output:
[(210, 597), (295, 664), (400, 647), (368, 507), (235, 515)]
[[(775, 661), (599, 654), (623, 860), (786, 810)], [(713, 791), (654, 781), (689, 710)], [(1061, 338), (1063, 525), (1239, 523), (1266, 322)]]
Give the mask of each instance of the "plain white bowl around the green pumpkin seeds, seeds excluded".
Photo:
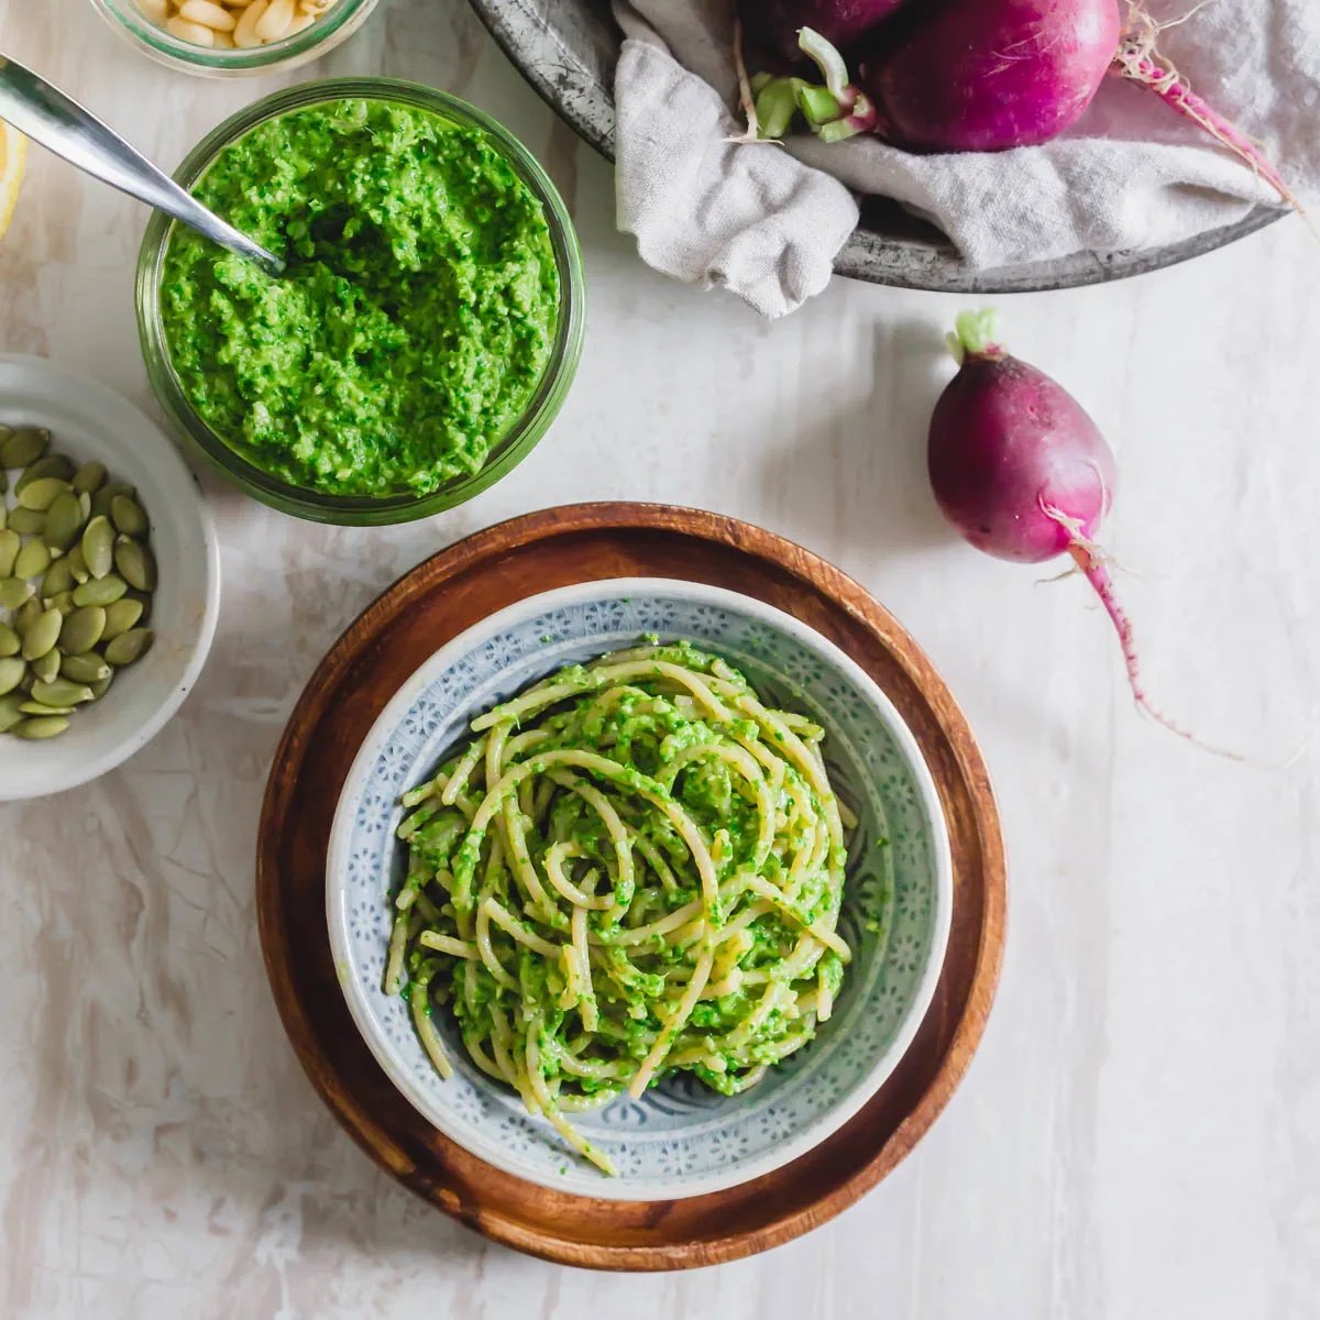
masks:
[(143, 747), (178, 710), (215, 632), (220, 557), (195, 478), (165, 433), (106, 385), (44, 358), (0, 355), (0, 421), (49, 426), (51, 449), (96, 458), (111, 479), (137, 487), (152, 523), (160, 586), (156, 643), (116, 675), (104, 700), (46, 742), (0, 734), (0, 801), (58, 793), (104, 775)]

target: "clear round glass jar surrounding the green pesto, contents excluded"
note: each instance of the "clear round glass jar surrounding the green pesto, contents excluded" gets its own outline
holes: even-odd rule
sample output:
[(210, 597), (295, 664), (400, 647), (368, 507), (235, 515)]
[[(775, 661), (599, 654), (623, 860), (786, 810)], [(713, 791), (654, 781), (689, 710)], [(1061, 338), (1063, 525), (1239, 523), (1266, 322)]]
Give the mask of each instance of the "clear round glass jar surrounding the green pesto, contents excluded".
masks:
[(483, 129), (503, 152), (519, 177), (540, 201), (549, 228), (560, 276), (560, 308), (554, 343), (541, 380), (521, 417), (492, 444), (484, 466), (469, 477), (441, 486), (429, 495), (403, 492), (387, 496), (331, 495), (312, 487), (290, 486), (253, 463), (242, 449), (216, 434), (197, 414), (170, 360), (161, 315), (161, 279), (174, 222), (154, 213), (147, 224), (137, 257), (137, 329), (147, 375), (161, 408), (187, 446), (219, 469), (235, 486), (273, 508), (318, 523), (380, 525), (429, 517), (471, 499), (525, 458), (549, 429), (568, 395), (582, 354), (586, 322), (586, 281), (573, 222), (558, 190), (528, 149), (488, 115), (442, 91), (392, 78), (326, 78), (275, 92), (227, 119), (189, 153), (174, 178), (191, 187), (216, 154), (259, 124), (308, 106), (343, 98), (384, 100), (429, 111), (451, 124)]

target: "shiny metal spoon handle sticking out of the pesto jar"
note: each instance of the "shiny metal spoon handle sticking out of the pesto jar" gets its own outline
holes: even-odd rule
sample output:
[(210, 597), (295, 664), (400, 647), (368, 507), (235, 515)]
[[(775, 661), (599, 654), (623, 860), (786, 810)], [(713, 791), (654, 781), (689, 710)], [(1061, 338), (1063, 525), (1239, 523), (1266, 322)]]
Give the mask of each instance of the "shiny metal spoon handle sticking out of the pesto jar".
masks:
[(4, 55), (0, 55), (0, 119), (70, 165), (255, 261), (267, 275), (284, 273), (284, 263), (273, 252), (226, 224), (58, 87)]

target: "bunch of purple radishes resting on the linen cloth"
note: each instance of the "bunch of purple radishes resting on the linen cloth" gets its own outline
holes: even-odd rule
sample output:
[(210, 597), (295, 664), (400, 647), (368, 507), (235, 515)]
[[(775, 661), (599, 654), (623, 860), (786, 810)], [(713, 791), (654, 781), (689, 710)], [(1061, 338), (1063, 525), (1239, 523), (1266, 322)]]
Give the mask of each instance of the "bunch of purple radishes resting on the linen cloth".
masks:
[(1295, 205), (1259, 149), (1163, 59), (1135, 0), (738, 0), (738, 16), (739, 61), (755, 71), (744, 108), (760, 137), (781, 137), (800, 115), (825, 141), (1035, 147), (1071, 128), (1113, 74), (1150, 88)]

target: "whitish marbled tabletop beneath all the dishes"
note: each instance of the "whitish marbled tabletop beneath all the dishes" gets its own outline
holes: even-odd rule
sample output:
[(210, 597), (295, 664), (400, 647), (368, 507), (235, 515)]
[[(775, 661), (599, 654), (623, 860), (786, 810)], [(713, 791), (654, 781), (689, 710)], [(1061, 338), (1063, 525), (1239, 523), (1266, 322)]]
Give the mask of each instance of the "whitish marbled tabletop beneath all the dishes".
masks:
[[(0, 0), (0, 44), (166, 165), (281, 81), (158, 70), (86, 0)], [(313, 527), (211, 483), (226, 591), (201, 685), (119, 772), (0, 808), (0, 1316), (1316, 1315), (1316, 756), (1266, 774), (1183, 746), (1134, 713), (1080, 582), (950, 540), (923, 434), (957, 300), (837, 282), (764, 325), (653, 276), (612, 230), (606, 165), (462, 0), (385, 0), (313, 73), (380, 70), (471, 98), (546, 161), (586, 249), (582, 370), (541, 447), (428, 524)], [(143, 220), (34, 152), (0, 244), (0, 350), (149, 403)], [(1152, 689), (1263, 758), (1320, 692), (1317, 309), (1296, 222), (1005, 309), (1119, 450), (1109, 541)], [(1011, 854), (999, 999), (919, 1151), (826, 1228), (694, 1275), (524, 1259), (379, 1173), (302, 1077), (253, 919), (271, 754), (339, 630), (447, 541), (590, 498), (737, 513), (873, 589), (962, 700)]]

